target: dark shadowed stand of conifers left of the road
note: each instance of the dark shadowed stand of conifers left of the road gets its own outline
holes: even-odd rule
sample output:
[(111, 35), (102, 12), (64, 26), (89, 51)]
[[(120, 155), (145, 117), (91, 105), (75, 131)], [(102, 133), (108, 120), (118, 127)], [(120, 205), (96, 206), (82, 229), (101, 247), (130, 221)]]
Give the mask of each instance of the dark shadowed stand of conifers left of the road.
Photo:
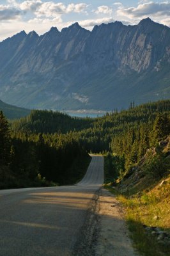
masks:
[(0, 188), (72, 184), (89, 159), (72, 134), (13, 133), (0, 112)]

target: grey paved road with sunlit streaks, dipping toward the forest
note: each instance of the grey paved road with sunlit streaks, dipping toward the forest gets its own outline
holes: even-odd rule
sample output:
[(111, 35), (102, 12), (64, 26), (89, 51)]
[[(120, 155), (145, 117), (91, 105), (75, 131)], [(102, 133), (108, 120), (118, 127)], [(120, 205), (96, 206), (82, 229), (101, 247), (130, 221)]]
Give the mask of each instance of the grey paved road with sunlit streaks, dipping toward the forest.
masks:
[(1, 190), (0, 256), (90, 255), (79, 241), (103, 180), (103, 157), (93, 156), (75, 186)]

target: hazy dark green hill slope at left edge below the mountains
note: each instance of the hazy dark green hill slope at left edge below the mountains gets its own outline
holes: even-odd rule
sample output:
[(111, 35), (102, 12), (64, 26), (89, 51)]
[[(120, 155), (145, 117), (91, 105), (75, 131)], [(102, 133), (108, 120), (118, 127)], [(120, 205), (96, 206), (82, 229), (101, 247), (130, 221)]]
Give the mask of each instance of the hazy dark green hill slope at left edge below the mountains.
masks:
[(0, 100), (0, 110), (3, 111), (4, 115), (8, 119), (17, 119), (30, 114), (31, 110), (25, 108), (19, 108), (10, 104), (4, 103)]

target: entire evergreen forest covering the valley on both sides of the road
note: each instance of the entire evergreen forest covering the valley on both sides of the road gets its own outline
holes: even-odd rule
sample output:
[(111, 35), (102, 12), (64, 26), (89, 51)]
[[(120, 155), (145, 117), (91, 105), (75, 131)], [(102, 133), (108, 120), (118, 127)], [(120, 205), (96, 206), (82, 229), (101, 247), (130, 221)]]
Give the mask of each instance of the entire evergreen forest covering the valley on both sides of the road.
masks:
[(86, 172), (89, 152), (114, 153), (121, 172), (130, 172), (169, 134), (169, 113), (170, 100), (97, 118), (33, 110), (10, 121), (1, 111), (0, 188), (73, 184)]

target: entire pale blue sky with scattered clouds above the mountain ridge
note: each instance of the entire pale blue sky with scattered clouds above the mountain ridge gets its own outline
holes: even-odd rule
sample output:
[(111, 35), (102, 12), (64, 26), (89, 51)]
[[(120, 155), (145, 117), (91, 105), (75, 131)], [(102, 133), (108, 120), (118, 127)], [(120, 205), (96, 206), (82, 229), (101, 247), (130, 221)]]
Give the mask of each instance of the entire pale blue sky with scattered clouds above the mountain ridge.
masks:
[(22, 30), (42, 35), (52, 26), (61, 30), (74, 22), (91, 30), (116, 20), (138, 24), (146, 17), (170, 27), (170, 1), (0, 0), (0, 41)]

